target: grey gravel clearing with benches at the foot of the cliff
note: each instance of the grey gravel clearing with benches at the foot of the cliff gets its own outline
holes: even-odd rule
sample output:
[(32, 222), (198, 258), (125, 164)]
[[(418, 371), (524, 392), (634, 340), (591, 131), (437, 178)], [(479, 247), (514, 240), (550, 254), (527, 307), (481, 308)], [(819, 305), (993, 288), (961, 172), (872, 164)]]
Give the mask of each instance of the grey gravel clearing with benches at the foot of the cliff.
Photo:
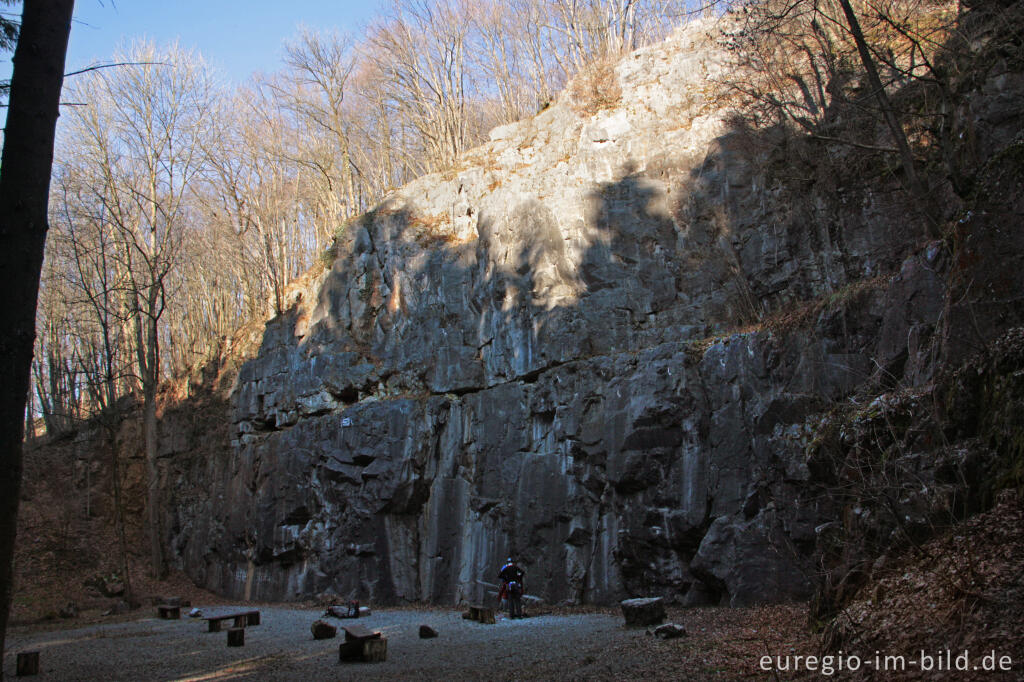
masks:
[[(224, 611), (224, 606), (215, 609)], [(186, 609), (182, 609), (184, 611)], [(309, 626), (321, 609), (260, 607), (261, 625), (246, 629), (245, 646), (228, 648), (224, 632), (206, 622), (143, 617), (68, 630), (14, 628), (7, 634), (5, 676), (14, 677), (18, 651), (40, 651), (39, 680), (476, 680), (568, 678), (643, 630), (600, 613), (499, 616), (496, 625), (464, 621), (461, 611), (375, 610), (358, 621), (325, 619), (381, 630), (387, 660), (339, 664), (339, 636), (315, 641)], [(419, 626), (439, 636), (420, 639)], [(620, 677), (625, 670), (620, 666)]]

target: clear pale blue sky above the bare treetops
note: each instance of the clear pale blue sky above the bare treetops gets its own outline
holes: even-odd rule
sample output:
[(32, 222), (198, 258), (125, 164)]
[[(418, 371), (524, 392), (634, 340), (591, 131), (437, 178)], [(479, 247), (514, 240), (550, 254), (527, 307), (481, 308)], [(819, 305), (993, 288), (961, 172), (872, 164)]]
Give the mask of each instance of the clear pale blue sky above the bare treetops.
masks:
[[(76, 0), (67, 71), (103, 61), (123, 41), (178, 39), (234, 83), (281, 63), (281, 43), (301, 25), (358, 35), (384, 0)], [(12, 10), (14, 8), (11, 8)], [(16, 11), (20, 13), (20, 8)], [(9, 78), (10, 55), (0, 78)]]

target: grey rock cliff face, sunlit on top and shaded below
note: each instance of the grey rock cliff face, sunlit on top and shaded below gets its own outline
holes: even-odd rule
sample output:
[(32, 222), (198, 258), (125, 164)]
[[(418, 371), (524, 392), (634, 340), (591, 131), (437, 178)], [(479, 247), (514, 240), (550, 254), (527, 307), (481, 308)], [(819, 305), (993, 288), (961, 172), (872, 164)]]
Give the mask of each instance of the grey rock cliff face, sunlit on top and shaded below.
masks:
[[(239, 371), (229, 432), (165, 453), (198, 583), (453, 603), (515, 554), (552, 602), (809, 594), (833, 510), (808, 420), (931, 380), (952, 264), (898, 185), (795, 185), (752, 148), (710, 32), (347, 226)], [(754, 325), (829, 294), (803, 332)]]

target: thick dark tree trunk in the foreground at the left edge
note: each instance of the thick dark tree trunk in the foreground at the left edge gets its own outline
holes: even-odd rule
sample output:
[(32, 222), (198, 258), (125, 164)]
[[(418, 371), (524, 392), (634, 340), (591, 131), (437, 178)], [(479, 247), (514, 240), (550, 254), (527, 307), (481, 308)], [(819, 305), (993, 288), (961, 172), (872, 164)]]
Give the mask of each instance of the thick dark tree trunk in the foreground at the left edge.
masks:
[(74, 5), (74, 0), (25, 0), (0, 162), (0, 273), (5, 298), (0, 305), (0, 653), (10, 612), (36, 296)]

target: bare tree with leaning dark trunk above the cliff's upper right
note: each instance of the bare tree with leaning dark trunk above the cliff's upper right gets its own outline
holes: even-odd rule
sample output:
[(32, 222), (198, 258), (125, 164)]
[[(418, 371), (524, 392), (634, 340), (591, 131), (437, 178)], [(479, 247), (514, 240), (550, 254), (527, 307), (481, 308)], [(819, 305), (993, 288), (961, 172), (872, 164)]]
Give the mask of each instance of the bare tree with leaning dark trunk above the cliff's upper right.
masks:
[[(728, 42), (741, 68), (729, 84), (745, 97), (755, 120), (793, 123), (821, 141), (895, 155), (902, 182), (933, 235), (935, 202), (919, 170), (909, 126), (890, 92), (908, 82), (934, 80), (931, 59), (950, 34), (954, 16), (938, 9), (918, 0), (868, 4), (861, 12), (848, 0), (744, 3)], [(880, 66), (888, 69), (885, 76)], [(867, 114), (888, 130), (889, 139), (834, 130), (841, 120), (836, 112), (844, 109)]]

